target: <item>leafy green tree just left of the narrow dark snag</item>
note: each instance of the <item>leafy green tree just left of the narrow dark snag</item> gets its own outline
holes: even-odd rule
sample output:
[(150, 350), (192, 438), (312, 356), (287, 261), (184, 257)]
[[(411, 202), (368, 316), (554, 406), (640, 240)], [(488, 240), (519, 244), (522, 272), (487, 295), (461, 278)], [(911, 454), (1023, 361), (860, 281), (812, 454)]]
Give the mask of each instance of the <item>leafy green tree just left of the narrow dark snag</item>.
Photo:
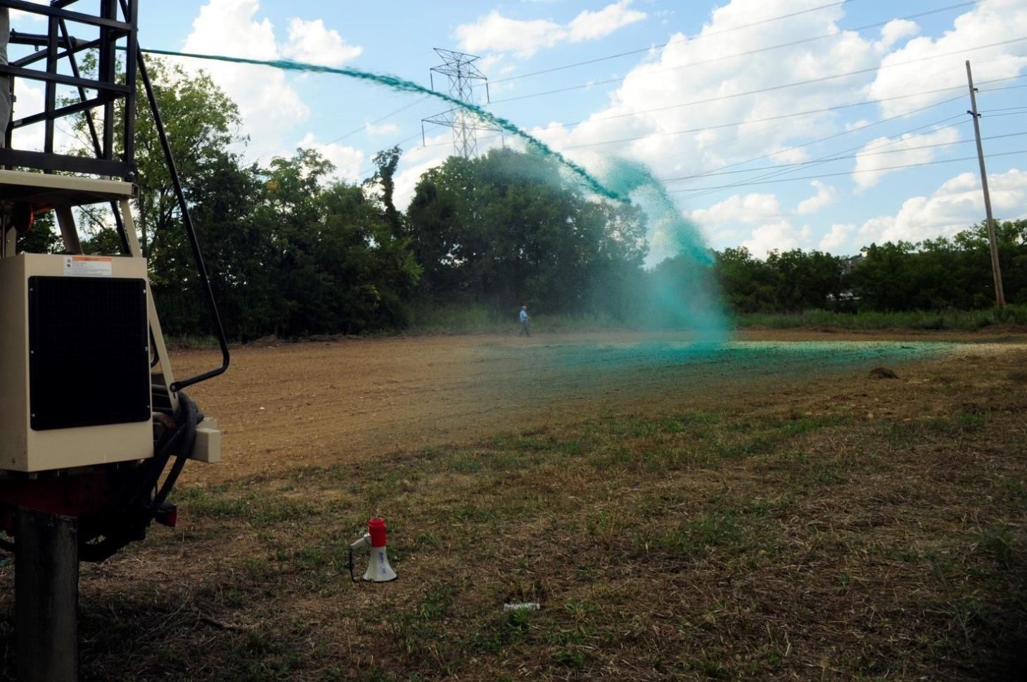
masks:
[(401, 327), (419, 269), (359, 187), (299, 150), (264, 172), (253, 220), (272, 244), (273, 331), (280, 336)]

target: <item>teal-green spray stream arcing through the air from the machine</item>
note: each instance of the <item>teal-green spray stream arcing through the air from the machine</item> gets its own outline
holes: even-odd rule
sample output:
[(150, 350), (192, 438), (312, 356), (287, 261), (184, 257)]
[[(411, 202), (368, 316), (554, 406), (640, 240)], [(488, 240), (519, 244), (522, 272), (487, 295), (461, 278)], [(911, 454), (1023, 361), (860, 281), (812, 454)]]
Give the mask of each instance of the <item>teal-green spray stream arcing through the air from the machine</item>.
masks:
[(678, 277), (672, 286), (656, 285), (653, 292), (656, 305), (663, 312), (673, 310), (673, 317), (683, 326), (699, 332), (698, 339), (716, 343), (726, 337), (726, 325), (716, 296), (710, 291), (703, 273), (710, 270), (713, 257), (703, 243), (698, 229), (686, 220), (674, 200), (667, 193), (662, 183), (653, 178), (652, 174), (641, 163), (624, 159), (607, 158), (603, 170), (603, 181), (585, 170), (581, 165), (570, 160), (560, 152), (551, 149), (541, 140), (522, 130), (509, 120), (496, 116), (485, 109), (458, 100), (445, 92), (436, 92), (417, 83), (391, 76), (350, 68), (335, 68), (316, 64), (305, 64), (291, 60), (252, 60), (241, 56), (222, 54), (200, 54), (195, 52), (176, 52), (162, 49), (143, 49), (150, 54), (164, 56), (227, 62), (230, 64), (249, 64), (253, 66), (271, 67), (282, 71), (298, 71), (302, 73), (326, 73), (346, 76), (357, 80), (369, 81), (383, 85), (401, 92), (427, 94), (448, 104), (465, 109), (493, 125), (520, 138), (527, 143), (528, 149), (546, 157), (557, 159), (564, 167), (577, 176), (587, 189), (601, 197), (630, 203), (636, 199), (653, 221), (653, 235), (658, 240), (661, 251), (677, 256), (687, 269), (695, 270), (684, 277)]

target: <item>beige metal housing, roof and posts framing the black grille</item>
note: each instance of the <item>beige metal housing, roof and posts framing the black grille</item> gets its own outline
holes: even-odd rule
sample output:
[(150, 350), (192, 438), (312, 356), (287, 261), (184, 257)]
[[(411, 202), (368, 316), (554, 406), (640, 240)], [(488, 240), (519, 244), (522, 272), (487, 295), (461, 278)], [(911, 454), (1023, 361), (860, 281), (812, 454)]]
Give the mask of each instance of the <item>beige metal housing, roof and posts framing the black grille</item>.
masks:
[[(15, 254), (0, 239), (0, 477), (153, 456), (151, 385), (174, 382), (129, 199), (136, 188), (0, 169), (0, 204), (56, 214), (69, 256)], [(83, 257), (72, 210), (120, 204), (131, 256)], [(178, 408), (178, 396), (168, 400)], [(217, 422), (197, 428), (192, 456), (220, 461)]]

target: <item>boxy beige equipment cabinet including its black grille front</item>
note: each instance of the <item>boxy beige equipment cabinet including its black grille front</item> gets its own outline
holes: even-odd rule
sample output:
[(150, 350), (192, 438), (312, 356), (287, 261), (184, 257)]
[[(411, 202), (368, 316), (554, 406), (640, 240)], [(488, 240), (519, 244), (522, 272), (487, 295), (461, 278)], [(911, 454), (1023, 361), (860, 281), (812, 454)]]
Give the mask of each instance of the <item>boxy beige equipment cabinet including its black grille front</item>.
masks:
[[(47, 298), (40, 300), (44, 290)], [(3, 468), (44, 471), (153, 456), (148, 296), (141, 258), (20, 254), (0, 260)], [(117, 336), (140, 326), (127, 329), (141, 342), (132, 354)], [(64, 338), (47, 342), (38, 338), (44, 331)], [(114, 345), (103, 352), (106, 344)], [(124, 389), (128, 395), (116, 394)], [(124, 405), (134, 399), (139, 405)], [(111, 423), (75, 426), (83, 416)]]

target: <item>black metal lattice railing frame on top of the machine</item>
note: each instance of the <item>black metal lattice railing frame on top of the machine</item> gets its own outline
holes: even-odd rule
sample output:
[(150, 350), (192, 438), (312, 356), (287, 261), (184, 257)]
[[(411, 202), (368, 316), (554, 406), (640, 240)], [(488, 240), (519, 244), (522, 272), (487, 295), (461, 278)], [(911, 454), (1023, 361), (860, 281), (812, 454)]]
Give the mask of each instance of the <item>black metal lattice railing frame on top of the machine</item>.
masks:
[[(37, 14), (46, 21), (45, 34), (11, 32), (11, 45), (29, 45), (37, 49), (32, 53), (0, 65), (0, 74), (26, 78), (44, 83), (43, 111), (12, 120), (4, 131), (6, 146), (0, 149), (0, 164), (7, 167), (27, 166), (44, 172), (68, 172), (108, 176), (131, 181), (136, 175), (132, 159), (136, 156), (136, 65), (139, 59), (139, 0), (98, 0), (96, 14), (68, 9), (78, 0), (51, 0), (49, 5), (39, 5), (25, 0), (0, 0), (0, 6)], [(120, 11), (119, 11), (120, 9)], [(71, 36), (68, 25), (75, 24), (96, 30), (94, 40), (79, 40)], [(125, 50), (125, 69), (122, 77), (117, 73), (117, 51)], [(84, 50), (97, 50), (99, 63), (97, 78), (83, 78), (79, 73), (76, 55)], [(71, 75), (59, 71), (62, 60), (71, 66)], [(42, 63), (40, 67), (40, 63)], [(77, 87), (80, 101), (59, 107), (59, 85)], [(94, 90), (87, 98), (86, 90)], [(121, 151), (116, 150), (114, 110), (118, 101), (124, 101), (124, 126), (121, 131)], [(91, 112), (103, 109), (103, 129), (97, 131)], [(86, 158), (59, 154), (53, 149), (56, 121), (79, 112), (87, 112), (89, 126), (94, 135), (97, 157)], [(11, 132), (20, 127), (43, 123), (43, 151), (18, 150), (11, 147)]]

